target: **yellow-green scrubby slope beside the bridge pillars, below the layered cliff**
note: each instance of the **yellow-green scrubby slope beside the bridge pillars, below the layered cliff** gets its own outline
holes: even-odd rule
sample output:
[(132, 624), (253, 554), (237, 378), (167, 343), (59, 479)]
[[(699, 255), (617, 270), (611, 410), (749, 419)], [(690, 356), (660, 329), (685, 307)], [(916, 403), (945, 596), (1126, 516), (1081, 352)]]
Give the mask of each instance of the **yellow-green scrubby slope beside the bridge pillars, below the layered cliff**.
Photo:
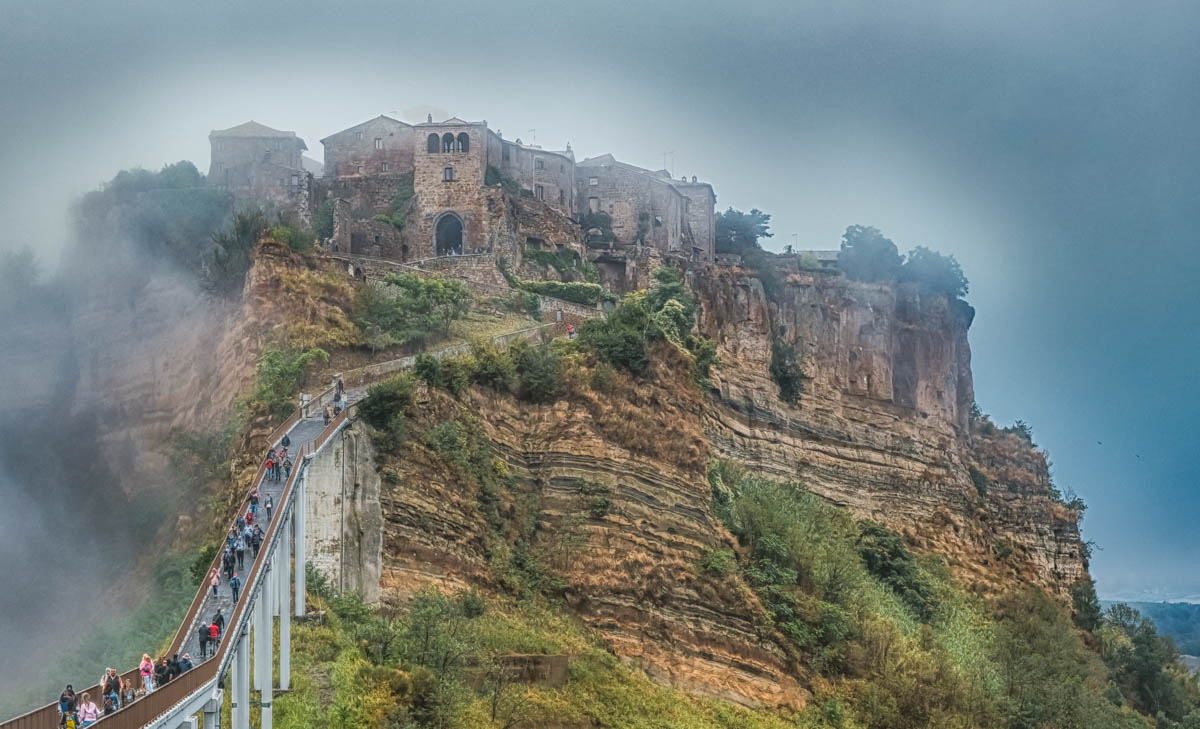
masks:
[[(310, 600), (328, 619), (292, 628), (293, 682), (275, 698), (278, 729), (792, 725), (658, 686), (539, 601), (425, 590), (395, 611), (365, 606), (355, 594), (322, 598), (310, 589)], [(518, 653), (568, 655), (566, 685), (512, 680), (505, 657)]]

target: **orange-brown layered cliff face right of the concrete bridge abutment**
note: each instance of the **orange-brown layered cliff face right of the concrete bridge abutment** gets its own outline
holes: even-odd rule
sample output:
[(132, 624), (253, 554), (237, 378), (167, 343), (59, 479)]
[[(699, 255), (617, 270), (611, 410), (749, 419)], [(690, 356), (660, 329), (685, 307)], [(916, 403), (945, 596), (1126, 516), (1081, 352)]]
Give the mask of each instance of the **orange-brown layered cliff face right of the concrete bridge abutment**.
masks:
[[(617, 656), (695, 694), (800, 706), (803, 671), (772, 639), (754, 594), (736, 576), (698, 568), (706, 549), (732, 542), (710, 508), (702, 397), (672, 373), (659, 376), (679, 387), (583, 387), (552, 406), (479, 390), (460, 405), (433, 392), (416, 408), (426, 422), (478, 416), (536, 500), (538, 553)], [(478, 494), (420, 442), (386, 468), (383, 589), (491, 584)]]

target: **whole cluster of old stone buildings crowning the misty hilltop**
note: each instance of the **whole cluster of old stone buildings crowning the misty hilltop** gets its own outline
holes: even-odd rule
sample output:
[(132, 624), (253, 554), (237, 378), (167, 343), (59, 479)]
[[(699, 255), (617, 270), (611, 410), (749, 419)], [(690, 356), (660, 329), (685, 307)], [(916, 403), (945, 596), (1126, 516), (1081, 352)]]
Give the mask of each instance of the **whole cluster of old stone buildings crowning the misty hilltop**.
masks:
[(712, 263), (716, 194), (696, 176), (674, 179), (613, 155), (576, 161), (570, 144), (546, 150), (508, 140), (486, 121), (410, 125), (377, 116), (320, 140), (320, 167), (295, 132), (256, 121), (209, 134), (209, 181), (238, 201), (311, 223), (331, 207), (331, 252), (400, 263), (526, 251), (575, 251), (602, 283), (646, 283), (654, 259)]

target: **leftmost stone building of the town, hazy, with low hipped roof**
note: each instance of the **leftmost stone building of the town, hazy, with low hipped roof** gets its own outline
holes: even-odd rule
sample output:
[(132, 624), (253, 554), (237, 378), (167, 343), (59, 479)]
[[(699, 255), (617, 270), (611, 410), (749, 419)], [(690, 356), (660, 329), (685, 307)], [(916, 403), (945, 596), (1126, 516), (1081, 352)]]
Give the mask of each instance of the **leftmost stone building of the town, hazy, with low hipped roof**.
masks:
[(307, 213), (311, 175), (302, 153), (308, 147), (295, 132), (257, 121), (209, 133), (209, 182), (227, 188), (234, 199)]

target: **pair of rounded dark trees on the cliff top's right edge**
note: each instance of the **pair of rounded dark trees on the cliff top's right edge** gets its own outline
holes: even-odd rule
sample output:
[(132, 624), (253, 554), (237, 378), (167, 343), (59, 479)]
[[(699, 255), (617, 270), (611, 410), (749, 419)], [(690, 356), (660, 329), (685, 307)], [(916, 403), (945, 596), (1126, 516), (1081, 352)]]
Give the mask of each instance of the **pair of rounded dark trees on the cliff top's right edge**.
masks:
[(878, 228), (851, 225), (842, 234), (838, 267), (854, 281), (901, 281), (919, 283), (950, 299), (966, 296), (967, 277), (953, 255), (943, 255), (924, 246), (913, 248), (907, 258)]

